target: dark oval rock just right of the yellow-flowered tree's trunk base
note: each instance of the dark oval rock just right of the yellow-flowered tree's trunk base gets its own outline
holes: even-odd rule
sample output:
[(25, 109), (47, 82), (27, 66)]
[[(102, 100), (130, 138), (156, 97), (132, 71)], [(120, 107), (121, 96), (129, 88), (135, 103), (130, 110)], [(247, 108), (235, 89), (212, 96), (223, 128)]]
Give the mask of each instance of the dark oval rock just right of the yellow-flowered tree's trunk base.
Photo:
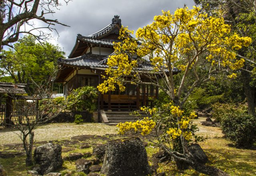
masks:
[(208, 158), (199, 144), (191, 144), (188, 148), (196, 162), (200, 164), (206, 164), (208, 162)]

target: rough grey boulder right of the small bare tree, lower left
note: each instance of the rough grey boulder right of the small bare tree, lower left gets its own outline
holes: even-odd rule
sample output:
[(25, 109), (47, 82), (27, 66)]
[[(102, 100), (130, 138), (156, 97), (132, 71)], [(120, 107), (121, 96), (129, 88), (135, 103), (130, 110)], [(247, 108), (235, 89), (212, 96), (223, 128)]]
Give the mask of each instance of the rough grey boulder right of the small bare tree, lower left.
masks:
[(48, 174), (62, 167), (61, 146), (59, 144), (47, 143), (39, 146), (34, 151), (34, 162), (39, 164), (38, 173)]

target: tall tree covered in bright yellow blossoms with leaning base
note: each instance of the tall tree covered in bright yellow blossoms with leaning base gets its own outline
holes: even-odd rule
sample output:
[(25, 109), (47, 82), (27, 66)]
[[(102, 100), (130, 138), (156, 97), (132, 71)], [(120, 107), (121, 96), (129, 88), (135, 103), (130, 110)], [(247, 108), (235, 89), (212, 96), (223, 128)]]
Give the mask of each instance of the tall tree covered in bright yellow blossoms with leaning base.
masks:
[[(218, 67), (228, 67), (232, 70), (241, 68), (244, 59), (237, 58), (236, 52), (249, 46), (251, 38), (231, 33), (230, 26), (224, 24), (223, 18), (209, 17), (198, 7), (192, 10), (186, 7), (179, 8), (174, 14), (170, 14), (169, 11), (162, 13), (154, 17), (152, 24), (139, 28), (136, 39), (130, 37), (133, 31), (127, 28), (120, 30), (120, 39), (123, 41), (115, 43), (116, 54), (108, 58), (109, 68), (106, 69), (106, 77), (103, 76), (106, 79), (98, 89), (106, 93), (115, 90), (118, 85), (122, 91), (126, 82), (150, 84), (161, 88), (172, 102), (169, 108), (172, 119), (169, 120), (173, 120), (177, 126), (166, 133), (171, 138), (179, 137), (183, 149), (183, 153), (179, 153), (165, 147), (166, 152), (177, 160), (190, 164), (199, 172), (226, 175), (216, 168), (199, 164), (194, 160), (188, 150), (191, 135), (186, 133), (187, 126), (183, 125), (189, 123), (191, 118), (182, 115), (182, 106), (194, 88), (209, 79)], [(211, 68), (204, 70), (208, 74), (200, 74), (197, 69), (202, 67), (205, 61), (211, 63)], [(140, 67), (146, 63), (150, 63), (154, 69), (141, 71)], [(175, 68), (180, 70), (179, 82), (174, 80)], [(150, 82), (144, 82), (142, 76), (148, 77)], [(234, 76), (236, 74), (229, 77)], [(159, 84), (159, 80), (164, 84)], [(161, 118), (157, 120), (159, 122)]]

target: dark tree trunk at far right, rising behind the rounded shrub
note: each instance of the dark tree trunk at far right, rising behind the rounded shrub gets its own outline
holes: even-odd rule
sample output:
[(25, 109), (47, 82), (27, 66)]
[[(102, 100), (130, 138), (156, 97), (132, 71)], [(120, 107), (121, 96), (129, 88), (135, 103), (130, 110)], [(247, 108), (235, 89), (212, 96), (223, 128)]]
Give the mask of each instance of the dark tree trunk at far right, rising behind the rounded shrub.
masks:
[(250, 73), (245, 70), (241, 70), (241, 74), (243, 79), (244, 93), (248, 103), (248, 114), (255, 115), (254, 88), (250, 86)]

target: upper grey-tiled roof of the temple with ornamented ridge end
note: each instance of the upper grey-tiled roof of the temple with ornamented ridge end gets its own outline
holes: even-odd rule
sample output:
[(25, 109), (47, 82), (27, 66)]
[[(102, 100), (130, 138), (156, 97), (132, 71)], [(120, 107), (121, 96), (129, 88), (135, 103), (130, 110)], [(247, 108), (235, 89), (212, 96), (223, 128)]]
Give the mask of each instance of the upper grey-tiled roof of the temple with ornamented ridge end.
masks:
[(120, 42), (118, 36), (121, 27), (121, 19), (119, 19), (118, 15), (115, 15), (114, 18), (112, 18), (112, 22), (102, 30), (89, 36), (78, 34), (76, 37), (76, 44), (68, 58), (75, 58), (83, 55), (90, 46), (113, 48), (113, 42)]

